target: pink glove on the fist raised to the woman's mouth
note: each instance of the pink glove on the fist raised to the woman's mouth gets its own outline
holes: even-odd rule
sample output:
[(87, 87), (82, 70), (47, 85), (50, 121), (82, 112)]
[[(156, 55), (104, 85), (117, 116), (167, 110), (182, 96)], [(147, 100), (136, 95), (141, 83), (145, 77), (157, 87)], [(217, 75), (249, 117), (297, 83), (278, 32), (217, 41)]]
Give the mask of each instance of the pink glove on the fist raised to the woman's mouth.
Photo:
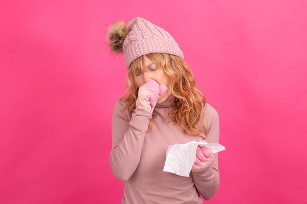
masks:
[(150, 80), (139, 88), (136, 106), (141, 110), (153, 111), (157, 100), (167, 90), (165, 85), (159, 85), (156, 81)]

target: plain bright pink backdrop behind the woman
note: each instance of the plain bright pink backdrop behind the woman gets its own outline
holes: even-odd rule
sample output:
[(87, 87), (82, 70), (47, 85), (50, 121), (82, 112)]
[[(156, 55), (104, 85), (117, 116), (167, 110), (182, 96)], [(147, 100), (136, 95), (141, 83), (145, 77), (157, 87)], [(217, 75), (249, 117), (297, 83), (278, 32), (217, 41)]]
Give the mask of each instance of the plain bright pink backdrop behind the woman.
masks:
[(209, 203), (307, 203), (306, 1), (103, 2), (1, 1), (0, 203), (120, 203), (108, 159), (126, 70), (105, 33), (137, 16), (173, 35), (220, 113)]

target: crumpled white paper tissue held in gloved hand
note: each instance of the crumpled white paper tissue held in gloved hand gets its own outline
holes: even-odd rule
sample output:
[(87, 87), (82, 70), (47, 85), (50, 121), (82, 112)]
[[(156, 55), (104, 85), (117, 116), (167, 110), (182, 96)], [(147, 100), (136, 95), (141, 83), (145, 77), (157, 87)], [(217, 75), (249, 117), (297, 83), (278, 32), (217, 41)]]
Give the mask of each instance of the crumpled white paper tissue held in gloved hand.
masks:
[(185, 144), (170, 145), (166, 151), (163, 171), (188, 177), (195, 162), (196, 149), (199, 145), (210, 148), (213, 153), (225, 150), (225, 147), (218, 143), (191, 141)]

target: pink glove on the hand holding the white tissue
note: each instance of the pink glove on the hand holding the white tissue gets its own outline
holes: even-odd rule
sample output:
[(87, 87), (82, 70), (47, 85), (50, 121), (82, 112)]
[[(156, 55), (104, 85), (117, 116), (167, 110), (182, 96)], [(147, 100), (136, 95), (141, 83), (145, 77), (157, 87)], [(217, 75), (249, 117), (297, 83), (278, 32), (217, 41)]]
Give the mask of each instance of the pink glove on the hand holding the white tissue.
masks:
[[(202, 142), (206, 142), (203, 140)], [(192, 166), (192, 171), (200, 172), (207, 168), (213, 161), (213, 153), (208, 147), (198, 146), (196, 149), (196, 159)]]

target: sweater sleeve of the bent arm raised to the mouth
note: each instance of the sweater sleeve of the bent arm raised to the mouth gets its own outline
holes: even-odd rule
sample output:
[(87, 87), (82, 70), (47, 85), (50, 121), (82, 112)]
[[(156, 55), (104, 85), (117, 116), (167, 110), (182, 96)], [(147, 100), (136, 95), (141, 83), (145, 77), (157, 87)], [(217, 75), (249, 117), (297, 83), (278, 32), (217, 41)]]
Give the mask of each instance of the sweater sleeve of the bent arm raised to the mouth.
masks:
[(126, 182), (135, 172), (152, 113), (136, 109), (129, 120), (127, 109), (118, 101), (112, 118), (110, 164), (118, 180)]

